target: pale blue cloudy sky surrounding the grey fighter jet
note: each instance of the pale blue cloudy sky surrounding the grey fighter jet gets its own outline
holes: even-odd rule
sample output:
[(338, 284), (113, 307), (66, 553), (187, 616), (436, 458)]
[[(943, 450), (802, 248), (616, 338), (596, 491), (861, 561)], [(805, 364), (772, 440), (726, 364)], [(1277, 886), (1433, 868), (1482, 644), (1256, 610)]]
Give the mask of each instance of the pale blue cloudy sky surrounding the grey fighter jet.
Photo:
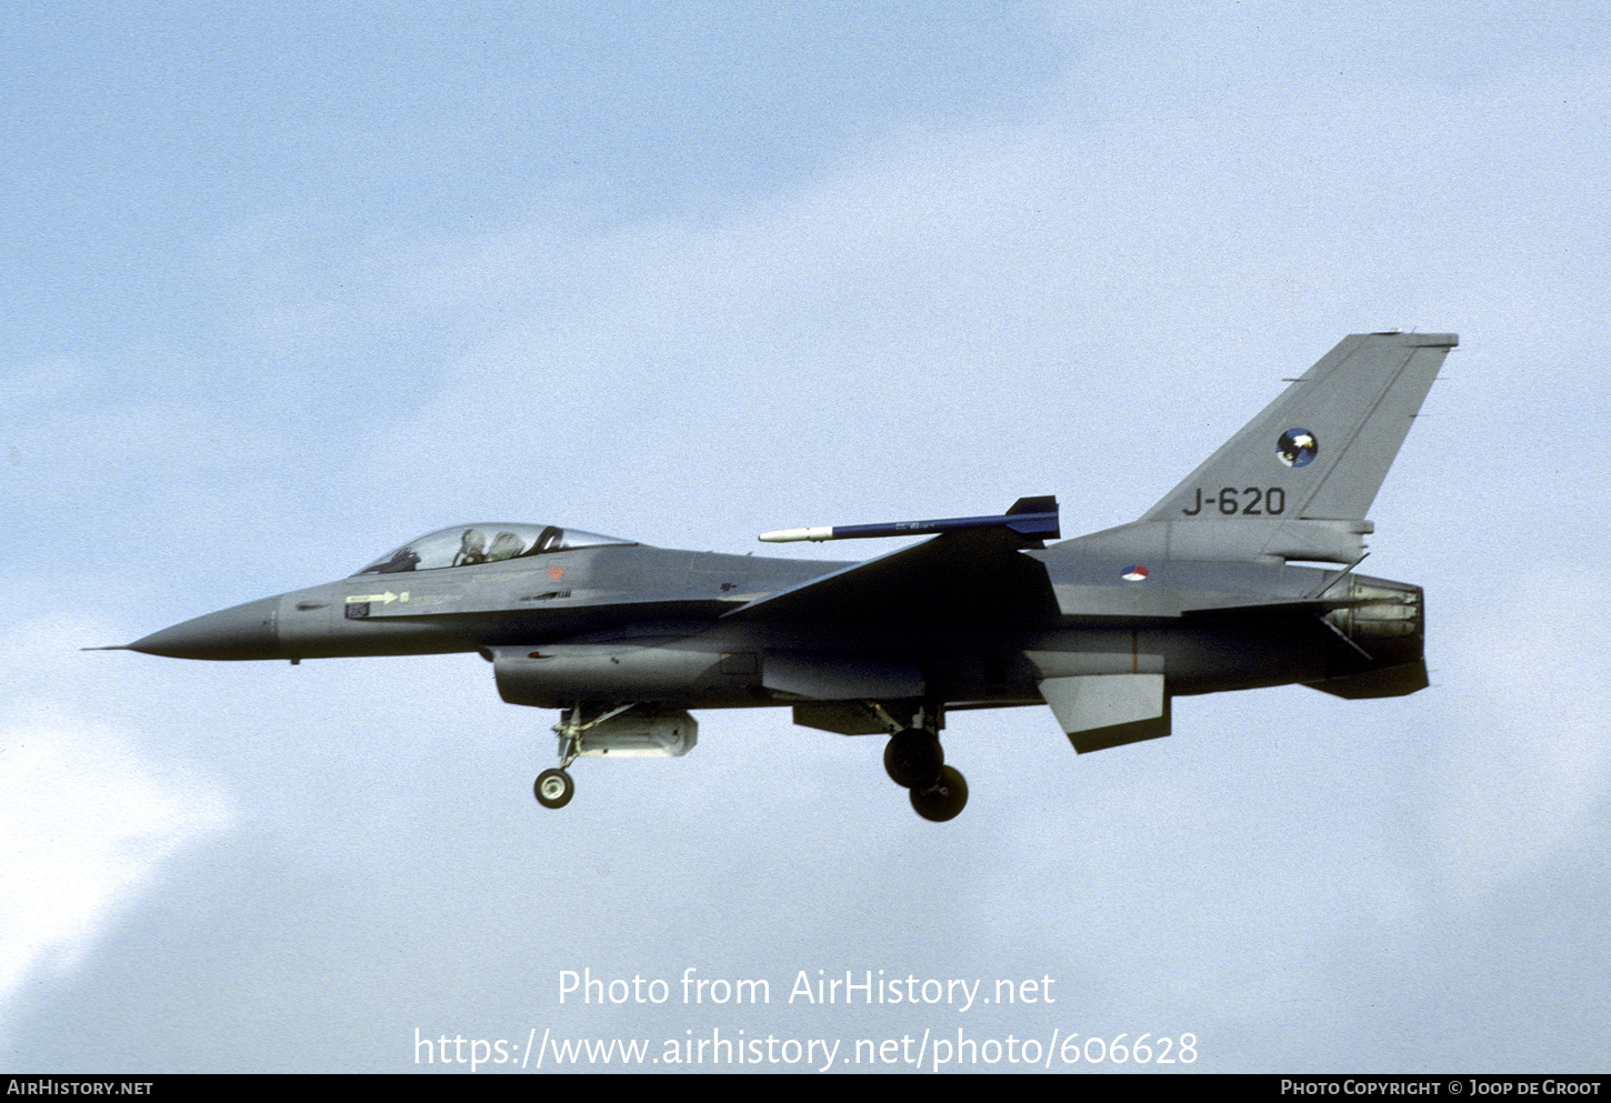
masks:
[[(0, 50), (0, 1064), (1603, 1071), (1600, 5), (164, 0), (10, 5)], [(1434, 684), (1084, 757), (955, 715), (949, 824), (785, 710), (554, 813), (554, 717), (474, 655), (79, 651), (464, 520), (1091, 531), (1395, 327), (1461, 335), (1373, 510)], [(846, 971), (920, 1002), (794, 994)]]

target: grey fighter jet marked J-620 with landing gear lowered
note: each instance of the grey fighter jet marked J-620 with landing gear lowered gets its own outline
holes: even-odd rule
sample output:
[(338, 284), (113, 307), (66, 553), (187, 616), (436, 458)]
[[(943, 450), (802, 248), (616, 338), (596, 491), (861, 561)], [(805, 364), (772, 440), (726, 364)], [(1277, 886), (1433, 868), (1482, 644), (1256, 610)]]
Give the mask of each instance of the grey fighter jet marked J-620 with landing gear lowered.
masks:
[[(765, 533), (930, 536), (863, 562), (673, 551), (554, 525), (454, 525), (340, 581), (197, 617), (126, 647), (290, 660), (478, 652), (498, 692), (559, 710), (578, 757), (681, 755), (694, 708), (793, 708), (886, 736), (926, 820), (962, 812), (952, 712), (1049, 705), (1079, 754), (1170, 734), (1171, 702), (1298, 683), (1427, 684), (1419, 586), (1369, 578), (1365, 518), (1443, 357), (1439, 333), (1347, 337), (1136, 522), (1060, 543), (1057, 499), (1007, 512)], [(1126, 459), (1126, 462), (1129, 462)]]

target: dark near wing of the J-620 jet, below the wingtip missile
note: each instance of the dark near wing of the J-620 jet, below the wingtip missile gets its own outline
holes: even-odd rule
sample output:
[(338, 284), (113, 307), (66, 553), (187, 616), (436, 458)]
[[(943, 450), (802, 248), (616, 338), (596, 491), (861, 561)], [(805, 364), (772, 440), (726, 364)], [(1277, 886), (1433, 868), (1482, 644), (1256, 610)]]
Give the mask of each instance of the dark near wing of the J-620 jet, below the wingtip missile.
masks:
[(1057, 597), (1046, 565), (1020, 554), (1033, 546), (1037, 543), (1008, 528), (942, 533), (757, 597), (728, 612), (725, 620), (1057, 623)]

